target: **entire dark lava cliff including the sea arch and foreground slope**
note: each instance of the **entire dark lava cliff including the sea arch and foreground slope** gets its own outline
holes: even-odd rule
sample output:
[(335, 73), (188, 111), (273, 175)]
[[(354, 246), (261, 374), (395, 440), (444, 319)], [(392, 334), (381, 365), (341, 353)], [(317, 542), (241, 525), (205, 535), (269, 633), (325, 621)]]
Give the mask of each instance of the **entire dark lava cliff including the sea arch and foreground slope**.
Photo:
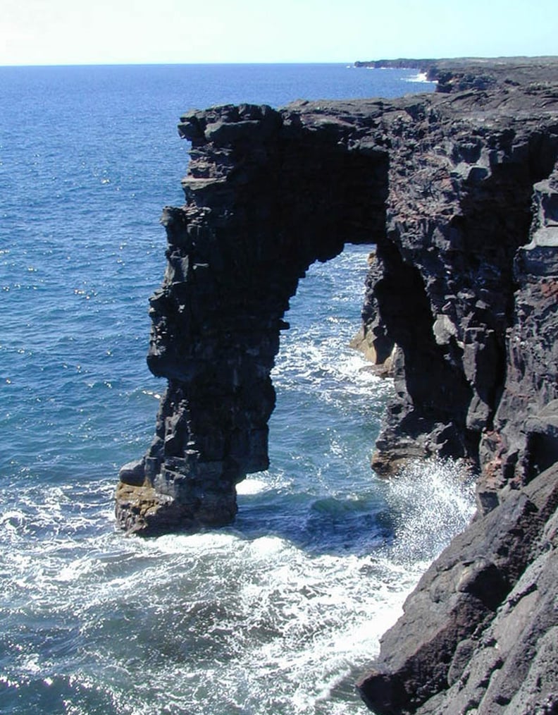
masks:
[(397, 397), (373, 466), (439, 454), (480, 473), (477, 518), (359, 686), (382, 714), (558, 707), (558, 63), (542, 67), (484, 63), (481, 89), (474, 66), (455, 82), (446, 68), (434, 95), (179, 125), (186, 205), (164, 211), (148, 358), (169, 387), (117, 518), (146, 534), (234, 518), (234, 485), (267, 465), (289, 297), (315, 260), (376, 243), (364, 341), (392, 356)]

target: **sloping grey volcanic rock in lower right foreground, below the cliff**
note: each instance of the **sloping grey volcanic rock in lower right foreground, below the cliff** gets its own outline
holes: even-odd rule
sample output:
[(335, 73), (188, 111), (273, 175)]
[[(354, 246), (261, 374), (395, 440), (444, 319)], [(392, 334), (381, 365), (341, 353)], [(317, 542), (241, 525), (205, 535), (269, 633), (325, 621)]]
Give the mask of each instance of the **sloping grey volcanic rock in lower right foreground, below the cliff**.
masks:
[[(539, 668), (532, 670), (525, 654), (542, 639), (548, 660), (558, 646), (557, 507), (555, 465), (454, 539), (407, 599), (404, 616), (382, 638), (374, 671), (359, 684), (374, 711), (457, 715), (478, 708), (492, 715), (514, 699), (522, 703), (524, 680)], [(530, 684), (529, 697), (556, 696), (556, 672), (552, 666), (544, 686)]]

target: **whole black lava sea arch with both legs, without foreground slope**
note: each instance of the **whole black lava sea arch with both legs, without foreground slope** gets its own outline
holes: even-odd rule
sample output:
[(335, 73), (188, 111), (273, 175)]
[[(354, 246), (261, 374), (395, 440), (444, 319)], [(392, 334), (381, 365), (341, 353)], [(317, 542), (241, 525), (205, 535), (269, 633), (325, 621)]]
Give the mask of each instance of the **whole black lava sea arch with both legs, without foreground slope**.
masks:
[[(121, 470), (121, 526), (234, 518), (235, 484), (268, 465), (269, 373), (289, 298), (346, 242), (377, 244), (364, 326), (379, 355), (399, 346), (374, 468), (437, 453), (524, 480), (541, 440), (521, 411), (502, 409), (514, 257), (530, 240), (534, 184), (557, 155), (544, 87), (525, 96), (504, 87), (182, 117), (186, 205), (164, 209), (168, 263), (150, 301), (149, 368), (169, 387), (154, 443)], [(539, 380), (545, 399), (551, 373)], [(537, 390), (522, 410), (541, 408)]]

